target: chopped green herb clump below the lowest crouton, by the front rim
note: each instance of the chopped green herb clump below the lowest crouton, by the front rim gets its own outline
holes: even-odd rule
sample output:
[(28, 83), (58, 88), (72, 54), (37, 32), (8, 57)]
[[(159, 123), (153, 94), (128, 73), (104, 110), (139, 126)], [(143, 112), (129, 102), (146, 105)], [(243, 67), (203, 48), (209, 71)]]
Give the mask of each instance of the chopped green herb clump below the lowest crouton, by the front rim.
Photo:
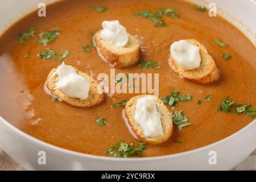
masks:
[(118, 142), (106, 151), (106, 154), (113, 156), (114, 158), (126, 158), (130, 156), (141, 156), (142, 151), (146, 148), (145, 143), (138, 143), (138, 147), (133, 147), (133, 142), (125, 143), (123, 141)]

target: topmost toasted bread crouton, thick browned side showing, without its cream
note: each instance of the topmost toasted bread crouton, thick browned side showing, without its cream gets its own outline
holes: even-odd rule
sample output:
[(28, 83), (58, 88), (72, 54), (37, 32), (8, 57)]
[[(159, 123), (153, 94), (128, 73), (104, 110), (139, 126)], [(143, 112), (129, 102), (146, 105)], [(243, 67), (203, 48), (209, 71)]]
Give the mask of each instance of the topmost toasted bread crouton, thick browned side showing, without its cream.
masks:
[(137, 63), (139, 60), (139, 43), (134, 36), (128, 34), (129, 41), (125, 47), (117, 47), (100, 38), (101, 30), (94, 36), (94, 41), (100, 49), (101, 55), (112, 64), (114, 68), (125, 68)]

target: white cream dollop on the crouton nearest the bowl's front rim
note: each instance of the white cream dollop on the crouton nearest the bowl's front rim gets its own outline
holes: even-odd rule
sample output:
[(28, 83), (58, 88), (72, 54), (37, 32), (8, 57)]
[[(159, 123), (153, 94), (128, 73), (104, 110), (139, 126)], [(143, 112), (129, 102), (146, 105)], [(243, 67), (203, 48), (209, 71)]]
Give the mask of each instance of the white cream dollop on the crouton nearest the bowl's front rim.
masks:
[(158, 137), (163, 135), (161, 114), (155, 104), (156, 97), (140, 97), (136, 103), (134, 121), (142, 128), (144, 137)]

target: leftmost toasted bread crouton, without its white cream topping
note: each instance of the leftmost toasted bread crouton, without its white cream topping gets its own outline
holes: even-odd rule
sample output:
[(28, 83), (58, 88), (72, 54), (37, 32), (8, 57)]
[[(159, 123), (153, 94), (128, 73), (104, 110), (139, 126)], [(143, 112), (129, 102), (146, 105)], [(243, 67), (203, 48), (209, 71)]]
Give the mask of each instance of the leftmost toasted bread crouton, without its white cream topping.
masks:
[[(75, 68), (76, 69), (76, 68)], [(77, 71), (77, 69), (76, 69)], [(92, 107), (94, 105), (99, 104), (102, 100), (104, 100), (104, 93), (98, 82), (94, 80), (89, 75), (77, 71), (77, 73), (86, 78), (88, 82), (90, 82), (89, 88), (89, 97), (86, 100), (80, 100), (79, 98), (68, 97), (60, 90), (55, 90), (56, 83), (58, 81), (58, 76), (52, 76), (53, 73), (56, 72), (56, 68), (53, 68), (47, 77), (47, 88), (53, 93), (57, 98), (61, 101), (75, 107)]]

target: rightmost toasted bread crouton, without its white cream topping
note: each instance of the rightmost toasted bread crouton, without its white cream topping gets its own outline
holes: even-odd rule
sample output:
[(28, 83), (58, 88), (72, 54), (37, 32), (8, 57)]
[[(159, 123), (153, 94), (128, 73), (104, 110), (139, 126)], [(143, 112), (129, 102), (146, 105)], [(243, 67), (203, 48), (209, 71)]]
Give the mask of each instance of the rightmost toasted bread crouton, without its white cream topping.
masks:
[(175, 72), (177, 72), (181, 77), (184, 77), (187, 80), (190, 80), (193, 82), (207, 84), (209, 82), (214, 82), (218, 80), (218, 77), (220, 77), (219, 70), (212, 56), (208, 54), (207, 49), (197, 40), (187, 39), (187, 42), (200, 48), (200, 56), (201, 56), (200, 67), (192, 70), (181, 69), (179, 65), (172, 59), (172, 56), (170, 55), (169, 64), (171, 68)]

